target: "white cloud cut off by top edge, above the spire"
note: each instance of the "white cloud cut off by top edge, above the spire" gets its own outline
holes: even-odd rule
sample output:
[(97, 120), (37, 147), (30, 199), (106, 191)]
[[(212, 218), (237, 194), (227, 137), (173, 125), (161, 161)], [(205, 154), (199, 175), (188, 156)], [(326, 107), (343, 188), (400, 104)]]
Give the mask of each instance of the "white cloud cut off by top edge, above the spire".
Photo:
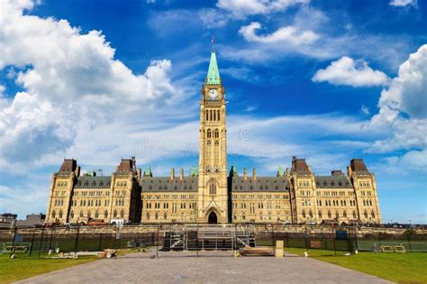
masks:
[(285, 11), (291, 5), (307, 4), (310, 0), (219, 0), (219, 8), (237, 17)]

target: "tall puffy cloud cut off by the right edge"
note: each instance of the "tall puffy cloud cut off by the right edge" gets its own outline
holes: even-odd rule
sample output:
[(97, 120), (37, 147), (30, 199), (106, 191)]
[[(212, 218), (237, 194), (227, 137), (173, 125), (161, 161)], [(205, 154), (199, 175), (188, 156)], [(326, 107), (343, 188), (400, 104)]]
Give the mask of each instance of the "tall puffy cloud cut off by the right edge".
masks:
[(381, 92), (379, 112), (368, 127), (389, 129), (390, 137), (376, 141), (369, 151), (427, 149), (426, 90), (427, 44), (424, 44), (404, 61), (397, 77)]

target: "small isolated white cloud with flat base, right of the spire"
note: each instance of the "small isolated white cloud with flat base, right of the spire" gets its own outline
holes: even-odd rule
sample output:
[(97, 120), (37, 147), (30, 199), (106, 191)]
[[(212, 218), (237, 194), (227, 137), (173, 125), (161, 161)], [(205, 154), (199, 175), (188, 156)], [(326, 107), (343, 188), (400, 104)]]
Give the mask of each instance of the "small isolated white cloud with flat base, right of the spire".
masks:
[(384, 86), (388, 80), (386, 74), (371, 69), (367, 62), (358, 62), (346, 56), (333, 61), (326, 69), (317, 70), (312, 79), (314, 82), (352, 87)]

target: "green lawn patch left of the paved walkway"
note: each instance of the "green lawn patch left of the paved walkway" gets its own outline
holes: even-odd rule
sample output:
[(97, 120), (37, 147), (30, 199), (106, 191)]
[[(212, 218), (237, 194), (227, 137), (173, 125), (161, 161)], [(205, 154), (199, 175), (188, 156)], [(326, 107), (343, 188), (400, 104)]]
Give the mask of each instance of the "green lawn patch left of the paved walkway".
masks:
[(32, 258), (30, 258), (26, 253), (16, 253), (16, 258), (10, 260), (9, 253), (5, 253), (0, 255), (0, 283), (9, 283), (15, 280), (29, 278), (53, 270), (62, 270), (95, 260), (95, 257), (80, 257), (77, 260), (49, 258), (39, 259), (37, 255), (33, 255)]

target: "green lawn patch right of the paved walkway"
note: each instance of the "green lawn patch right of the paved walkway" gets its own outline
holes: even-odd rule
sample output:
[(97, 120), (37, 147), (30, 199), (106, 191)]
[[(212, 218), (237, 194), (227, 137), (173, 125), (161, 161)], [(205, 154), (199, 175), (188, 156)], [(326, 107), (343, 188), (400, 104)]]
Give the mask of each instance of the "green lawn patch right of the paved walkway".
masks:
[[(286, 252), (303, 255), (305, 249), (285, 248)], [(427, 252), (359, 252), (344, 256), (347, 252), (309, 250), (310, 257), (351, 270), (358, 270), (399, 283), (427, 283)]]

